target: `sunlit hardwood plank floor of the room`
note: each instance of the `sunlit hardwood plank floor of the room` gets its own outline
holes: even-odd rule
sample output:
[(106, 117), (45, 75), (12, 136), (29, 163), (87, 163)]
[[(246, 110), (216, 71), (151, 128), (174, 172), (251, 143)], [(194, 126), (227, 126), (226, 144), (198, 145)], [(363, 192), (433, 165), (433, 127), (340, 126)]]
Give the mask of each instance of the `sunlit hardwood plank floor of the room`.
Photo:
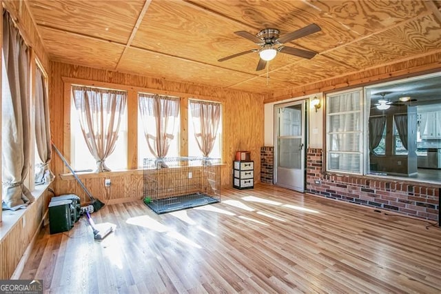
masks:
[(156, 215), (107, 205), (94, 241), (85, 219), (45, 228), (21, 279), (46, 293), (440, 293), (441, 230), (409, 217), (257, 185), (222, 202)]

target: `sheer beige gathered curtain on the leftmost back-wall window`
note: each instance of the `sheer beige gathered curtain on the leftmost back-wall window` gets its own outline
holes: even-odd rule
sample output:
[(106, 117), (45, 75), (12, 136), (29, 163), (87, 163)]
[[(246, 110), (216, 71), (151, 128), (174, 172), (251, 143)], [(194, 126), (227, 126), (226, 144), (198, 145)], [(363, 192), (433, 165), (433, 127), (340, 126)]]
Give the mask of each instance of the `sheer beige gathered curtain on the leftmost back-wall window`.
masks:
[(95, 172), (110, 171), (105, 159), (114, 151), (118, 139), (127, 92), (72, 86), (72, 97), (85, 142), (96, 160)]

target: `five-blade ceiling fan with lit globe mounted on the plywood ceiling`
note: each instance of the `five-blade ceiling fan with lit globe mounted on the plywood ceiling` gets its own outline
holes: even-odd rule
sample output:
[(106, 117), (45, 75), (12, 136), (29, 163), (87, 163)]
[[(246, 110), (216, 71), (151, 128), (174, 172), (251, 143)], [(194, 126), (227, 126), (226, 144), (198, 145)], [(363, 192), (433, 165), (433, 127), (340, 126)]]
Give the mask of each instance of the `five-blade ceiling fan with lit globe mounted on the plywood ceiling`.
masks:
[(260, 30), (256, 36), (250, 34), (249, 32), (245, 32), (244, 30), (240, 30), (238, 32), (234, 32), (234, 34), (256, 43), (256, 45), (260, 46), (260, 48), (229, 55), (219, 59), (218, 61), (225, 61), (248, 53), (258, 52), (260, 59), (256, 70), (263, 70), (265, 66), (267, 66), (267, 61), (274, 59), (278, 52), (311, 59), (317, 54), (317, 52), (283, 46), (283, 43), (288, 43), (295, 39), (314, 34), (314, 32), (318, 32), (320, 30), (322, 29), (317, 26), (316, 23), (311, 23), (304, 28), (300, 28), (294, 32), (289, 32), (280, 37), (280, 31), (276, 28), (264, 28), (263, 30)]

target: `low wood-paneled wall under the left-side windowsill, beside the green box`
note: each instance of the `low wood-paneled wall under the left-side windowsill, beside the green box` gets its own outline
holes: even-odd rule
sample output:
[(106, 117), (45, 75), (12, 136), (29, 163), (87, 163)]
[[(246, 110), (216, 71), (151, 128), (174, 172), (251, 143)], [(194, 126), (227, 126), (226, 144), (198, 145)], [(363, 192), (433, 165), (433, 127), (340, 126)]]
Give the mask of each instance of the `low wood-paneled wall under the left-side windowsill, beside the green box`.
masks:
[(0, 280), (10, 279), (23, 253), (39, 232), (43, 217), (48, 210), (52, 193), (45, 190), (34, 203), (26, 208), (8, 234), (0, 241)]

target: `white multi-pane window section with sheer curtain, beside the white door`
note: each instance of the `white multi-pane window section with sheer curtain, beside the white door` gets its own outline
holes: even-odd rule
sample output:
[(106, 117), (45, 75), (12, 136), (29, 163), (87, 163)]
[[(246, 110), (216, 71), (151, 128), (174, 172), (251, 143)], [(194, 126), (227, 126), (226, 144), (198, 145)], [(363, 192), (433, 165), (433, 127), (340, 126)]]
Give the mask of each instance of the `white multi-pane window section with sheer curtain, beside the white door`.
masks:
[(362, 90), (331, 93), (327, 99), (327, 170), (362, 173)]

